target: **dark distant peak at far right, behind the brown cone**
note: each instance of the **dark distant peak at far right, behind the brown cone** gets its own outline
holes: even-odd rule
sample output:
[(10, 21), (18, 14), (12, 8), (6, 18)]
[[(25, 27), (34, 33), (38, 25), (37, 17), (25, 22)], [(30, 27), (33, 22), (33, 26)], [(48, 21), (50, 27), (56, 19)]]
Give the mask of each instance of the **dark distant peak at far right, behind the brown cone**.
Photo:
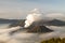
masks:
[(46, 23), (47, 26), (65, 26), (65, 22), (58, 20), (58, 19), (53, 19), (48, 23)]

